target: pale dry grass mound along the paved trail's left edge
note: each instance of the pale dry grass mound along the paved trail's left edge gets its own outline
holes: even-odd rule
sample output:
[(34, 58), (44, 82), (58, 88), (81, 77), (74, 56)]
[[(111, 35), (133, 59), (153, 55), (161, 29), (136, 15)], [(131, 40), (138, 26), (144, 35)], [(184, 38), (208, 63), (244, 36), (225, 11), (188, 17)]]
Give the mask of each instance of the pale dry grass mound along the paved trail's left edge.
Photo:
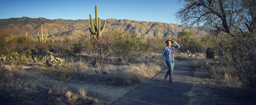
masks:
[(149, 65), (145, 65), (144, 63), (131, 64), (129, 67), (119, 68), (118, 71), (110, 73), (108, 84), (115, 86), (140, 84), (146, 82), (147, 79), (153, 77), (160, 71), (160, 66), (153, 63), (150, 63)]

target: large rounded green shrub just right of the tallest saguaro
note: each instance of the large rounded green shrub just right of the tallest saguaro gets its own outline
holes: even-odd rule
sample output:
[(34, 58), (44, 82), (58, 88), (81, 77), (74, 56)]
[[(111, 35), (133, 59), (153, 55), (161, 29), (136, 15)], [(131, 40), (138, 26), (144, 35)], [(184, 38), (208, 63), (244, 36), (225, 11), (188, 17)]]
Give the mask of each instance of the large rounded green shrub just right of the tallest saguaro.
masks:
[(135, 35), (127, 32), (114, 35), (114, 56), (121, 62), (129, 62), (142, 57), (147, 48)]

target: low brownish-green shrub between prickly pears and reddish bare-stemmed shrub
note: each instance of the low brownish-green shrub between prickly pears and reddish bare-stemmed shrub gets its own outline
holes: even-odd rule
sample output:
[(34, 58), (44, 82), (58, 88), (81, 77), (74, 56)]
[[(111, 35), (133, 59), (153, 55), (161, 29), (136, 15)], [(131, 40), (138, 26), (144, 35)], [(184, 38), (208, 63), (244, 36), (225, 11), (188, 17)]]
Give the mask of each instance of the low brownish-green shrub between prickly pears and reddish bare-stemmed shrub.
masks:
[(74, 56), (80, 54), (84, 50), (85, 46), (80, 40), (76, 38), (65, 37), (63, 41), (56, 41), (50, 45), (50, 51), (53, 53), (59, 53), (64, 56)]

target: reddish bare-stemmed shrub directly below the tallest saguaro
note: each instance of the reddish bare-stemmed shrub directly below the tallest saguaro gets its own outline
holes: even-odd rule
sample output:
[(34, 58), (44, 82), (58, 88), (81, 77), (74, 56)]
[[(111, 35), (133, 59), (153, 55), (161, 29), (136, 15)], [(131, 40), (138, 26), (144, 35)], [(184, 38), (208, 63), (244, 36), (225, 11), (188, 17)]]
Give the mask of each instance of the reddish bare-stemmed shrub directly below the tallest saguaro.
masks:
[(98, 67), (99, 63), (112, 56), (112, 46), (113, 44), (106, 40), (106, 37), (97, 37), (89, 42), (85, 52), (91, 58), (92, 64)]

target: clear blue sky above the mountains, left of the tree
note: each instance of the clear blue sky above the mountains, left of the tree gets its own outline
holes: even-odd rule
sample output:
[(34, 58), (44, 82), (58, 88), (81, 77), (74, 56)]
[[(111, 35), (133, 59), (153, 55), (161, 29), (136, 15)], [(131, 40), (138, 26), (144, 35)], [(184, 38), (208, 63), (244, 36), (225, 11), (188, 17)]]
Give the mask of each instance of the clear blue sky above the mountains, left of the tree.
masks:
[(182, 8), (176, 0), (0, 0), (0, 19), (11, 17), (47, 19), (115, 18), (179, 24), (175, 12)]

